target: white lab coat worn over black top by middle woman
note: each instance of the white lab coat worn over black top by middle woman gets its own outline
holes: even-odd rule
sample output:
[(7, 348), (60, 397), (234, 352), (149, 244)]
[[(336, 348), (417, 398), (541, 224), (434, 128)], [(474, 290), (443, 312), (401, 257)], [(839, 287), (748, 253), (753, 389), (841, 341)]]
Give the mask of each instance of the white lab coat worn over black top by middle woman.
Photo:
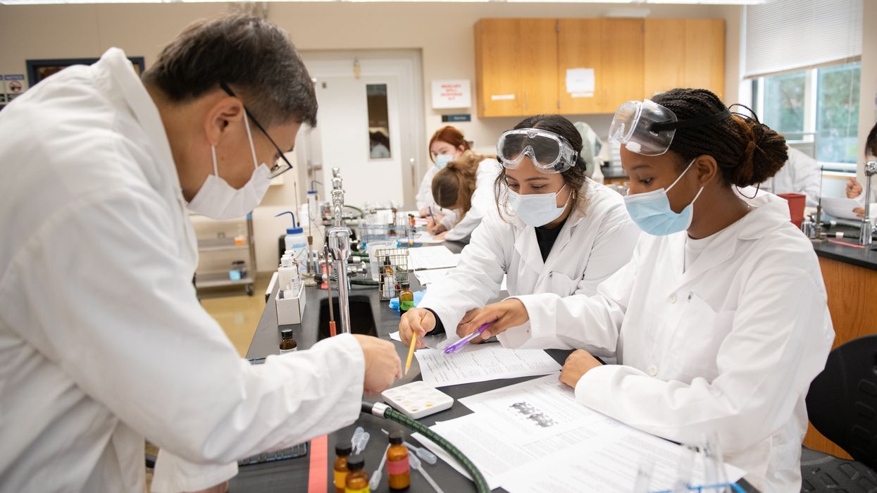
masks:
[(514, 215), (501, 217), (495, 204), (463, 248), (458, 267), (430, 284), (419, 306), (435, 311), (454, 337), (467, 311), (499, 294), (503, 275), (513, 296), (593, 295), (600, 282), (631, 260), (639, 228), (617, 192), (589, 179), (583, 190), (587, 209), (570, 212), (545, 262), (533, 226)]

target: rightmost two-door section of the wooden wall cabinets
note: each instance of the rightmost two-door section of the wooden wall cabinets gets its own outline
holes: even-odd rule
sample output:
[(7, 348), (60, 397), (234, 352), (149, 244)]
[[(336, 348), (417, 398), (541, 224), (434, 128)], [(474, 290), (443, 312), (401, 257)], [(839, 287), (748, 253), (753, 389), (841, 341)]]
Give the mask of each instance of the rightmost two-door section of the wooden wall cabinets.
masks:
[(724, 96), (724, 19), (645, 20), (645, 97), (678, 87)]

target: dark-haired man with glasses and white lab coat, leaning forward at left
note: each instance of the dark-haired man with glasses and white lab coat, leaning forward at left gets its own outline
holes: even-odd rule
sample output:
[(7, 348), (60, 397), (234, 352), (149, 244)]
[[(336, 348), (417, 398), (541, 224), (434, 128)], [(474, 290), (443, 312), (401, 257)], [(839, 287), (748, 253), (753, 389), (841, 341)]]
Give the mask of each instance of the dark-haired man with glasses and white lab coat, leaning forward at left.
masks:
[(316, 112), (286, 33), (238, 15), (190, 26), (144, 82), (112, 48), (5, 108), (0, 490), (140, 492), (144, 437), (153, 489), (209, 488), (399, 375), (391, 343), (350, 335), (251, 366), (196, 300), (189, 211), (252, 210)]

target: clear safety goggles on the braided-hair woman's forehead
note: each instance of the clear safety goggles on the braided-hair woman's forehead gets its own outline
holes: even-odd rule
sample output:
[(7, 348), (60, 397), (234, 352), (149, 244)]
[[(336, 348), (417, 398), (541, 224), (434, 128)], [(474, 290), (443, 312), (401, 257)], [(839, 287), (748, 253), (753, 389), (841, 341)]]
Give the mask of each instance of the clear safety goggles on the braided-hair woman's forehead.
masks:
[(679, 120), (673, 111), (651, 99), (628, 101), (618, 107), (612, 118), (609, 140), (613, 144), (624, 144), (631, 153), (657, 156), (667, 152), (678, 129), (709, 125), (725, 118), (731, 118), (731, 111)]

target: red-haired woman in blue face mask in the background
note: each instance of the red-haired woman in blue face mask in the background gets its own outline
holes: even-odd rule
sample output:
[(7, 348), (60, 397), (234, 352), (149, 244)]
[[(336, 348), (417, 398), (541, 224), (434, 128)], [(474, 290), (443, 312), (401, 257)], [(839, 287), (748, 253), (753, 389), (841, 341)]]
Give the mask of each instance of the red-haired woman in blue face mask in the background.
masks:
[(463, 133), (447, 125), (439, 128), (430, 138), (430, 161), (432, 166), (426, 170), (423, 179), (420, 181), (420, 188), (417, 189), (417, 211), (420, 212), (421, 218), (430, 218), (430, 232), (436, 231), (437, 225), (445, 225), (445, 229), (450, 229), (455, 220), (453, 211), (441, 209), (432, 199), (432, 178), (439, 173), (447, 163), (459, 158), (463, 153), (470, 149), (469, 143)]

